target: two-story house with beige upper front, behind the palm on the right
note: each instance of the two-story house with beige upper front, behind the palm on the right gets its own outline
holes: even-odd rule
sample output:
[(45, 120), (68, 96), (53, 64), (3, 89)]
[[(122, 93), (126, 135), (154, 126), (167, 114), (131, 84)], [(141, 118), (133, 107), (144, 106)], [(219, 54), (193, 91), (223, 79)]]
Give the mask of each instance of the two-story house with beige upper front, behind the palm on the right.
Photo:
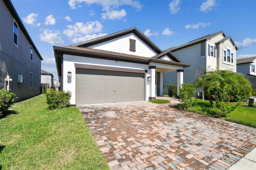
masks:
[[(172, 52), (181, 61), (191, 65), (184, 68), (184, 83), (193, 83), (198, 68), (236, 72), (236, 50), (238, 47), (232, 38), (220, 31), (165, 51)], [(164, 73), (164, 94), (168, 93), (167, 85), (177, 84), (176, 79), (175, 72)]]

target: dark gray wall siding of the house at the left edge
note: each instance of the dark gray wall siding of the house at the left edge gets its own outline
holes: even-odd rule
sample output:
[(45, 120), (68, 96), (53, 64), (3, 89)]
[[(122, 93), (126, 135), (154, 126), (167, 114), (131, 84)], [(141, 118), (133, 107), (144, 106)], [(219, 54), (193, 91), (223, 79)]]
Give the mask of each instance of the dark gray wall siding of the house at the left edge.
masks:
[[(0, 0), (0, 89), (4, 89), (4, 81), (10, 75), (10, 91), (15, 93), (14, 102), (22, 101), (40, 94), (41, 59), (33, 49), (33, 61), (30, 61), (31, 44), (18, 26), (18, 47), (13, 44), (14, 17)], [(30, 72), (32, 73), (32, 89), (30, 89)], [(22, 85), (18, 84), (18, 75), (23, 75)], [(37, 75), (37, 89), (35, 81)]]

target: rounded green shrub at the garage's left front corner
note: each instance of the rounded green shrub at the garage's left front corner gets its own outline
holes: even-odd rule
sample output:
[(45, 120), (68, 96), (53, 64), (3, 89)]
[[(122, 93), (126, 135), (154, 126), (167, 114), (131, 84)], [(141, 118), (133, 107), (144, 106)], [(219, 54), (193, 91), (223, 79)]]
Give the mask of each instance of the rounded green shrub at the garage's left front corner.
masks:
[(71, 95), (64, 91), (51, 90), (46, 93), (48, 109), (61, 109), (70, 105)]

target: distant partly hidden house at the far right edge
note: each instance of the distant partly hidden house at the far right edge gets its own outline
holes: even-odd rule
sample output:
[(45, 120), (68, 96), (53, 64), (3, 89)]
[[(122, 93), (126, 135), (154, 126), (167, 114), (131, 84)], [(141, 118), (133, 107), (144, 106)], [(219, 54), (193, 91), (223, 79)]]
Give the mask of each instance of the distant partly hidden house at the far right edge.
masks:
[(256, 56), (236, 60), (236, 71), (243, 73), (252, 83), (252, 88), (256, 89)]

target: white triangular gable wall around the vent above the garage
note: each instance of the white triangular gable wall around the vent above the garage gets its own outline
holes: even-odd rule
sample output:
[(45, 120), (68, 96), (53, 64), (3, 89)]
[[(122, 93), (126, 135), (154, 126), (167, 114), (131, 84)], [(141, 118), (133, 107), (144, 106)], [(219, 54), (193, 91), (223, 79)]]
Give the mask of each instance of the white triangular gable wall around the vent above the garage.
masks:
[[(130, 51), (130, 39), (136, 40), (136, 51)], [(142, 57), (152, 57), (157, 53), (144, 43), (135, 34), (127, 34), (106, 42), (98, 43), (90, 46), (90, 48), (125, 53), (130, 55), (138, 55)]]

